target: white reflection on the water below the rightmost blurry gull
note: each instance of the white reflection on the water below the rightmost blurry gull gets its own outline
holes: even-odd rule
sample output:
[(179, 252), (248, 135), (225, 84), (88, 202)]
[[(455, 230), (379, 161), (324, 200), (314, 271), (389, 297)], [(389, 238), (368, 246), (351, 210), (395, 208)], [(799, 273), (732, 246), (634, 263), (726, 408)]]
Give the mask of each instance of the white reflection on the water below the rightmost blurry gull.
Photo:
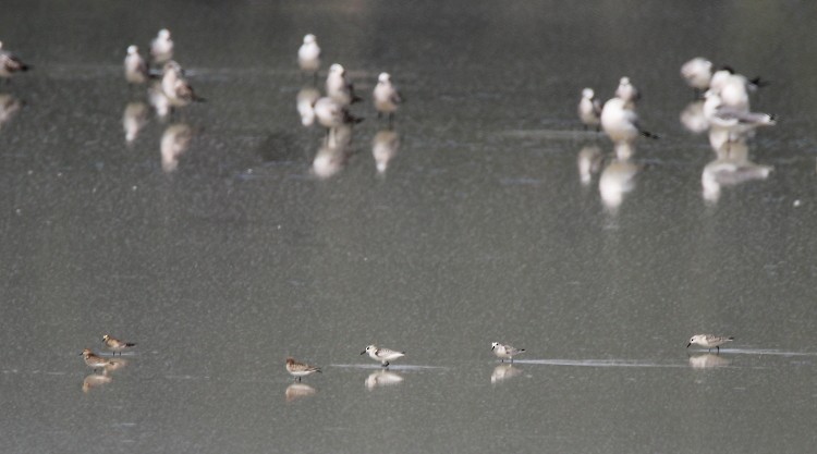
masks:
[(745, 142), (727, 142), (716, 155), (717, 158), (704, 167), (700, 175), (704, 199), (707, 201), (718, 201), (723, 186), (766, 180), (772, 171), (770, 165), (756, 164), (748, 160), (748, 147)]

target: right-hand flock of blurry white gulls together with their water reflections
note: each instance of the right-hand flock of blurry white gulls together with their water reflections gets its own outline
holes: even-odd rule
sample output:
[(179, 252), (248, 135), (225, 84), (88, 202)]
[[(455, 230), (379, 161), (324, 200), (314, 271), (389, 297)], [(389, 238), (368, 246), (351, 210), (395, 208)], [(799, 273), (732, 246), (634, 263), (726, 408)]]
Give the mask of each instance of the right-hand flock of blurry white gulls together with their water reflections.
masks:
[[(747, 146), (757, 128), (776, 124), (775, 115), (749, 109), (749, 95), (766, 83), (759, 77), (749, 79), (730, 66), (716, 69), (700, 57), (684, 63), (681, 76), (695, 95), (695, 100), (681, 112), (681, 122), (693, 133), (707, 133), (716, 156), (702, 174), (704, 198), (717, 201), (722, 186), (766, 179), (771, 167), (749, 161)], [(642, 127), (636, 111), (639, 99), (641, 94), (629, 77), (621, 77), (614, 97), (603, 105), (593, 88), (582, 90), (578, 118), (585, 130), (603, 131), (614, 144), (614, 158), (601, 171), (600, 149), (585, 147), (578, 154), (578, 173), (582, 183), (589, 184), (593, 175), (600, 172), (599, 192), (609, 208), (617, 208), (634, 186), (639, 169), (632, 161), (636, 140), (659, 138)]]

